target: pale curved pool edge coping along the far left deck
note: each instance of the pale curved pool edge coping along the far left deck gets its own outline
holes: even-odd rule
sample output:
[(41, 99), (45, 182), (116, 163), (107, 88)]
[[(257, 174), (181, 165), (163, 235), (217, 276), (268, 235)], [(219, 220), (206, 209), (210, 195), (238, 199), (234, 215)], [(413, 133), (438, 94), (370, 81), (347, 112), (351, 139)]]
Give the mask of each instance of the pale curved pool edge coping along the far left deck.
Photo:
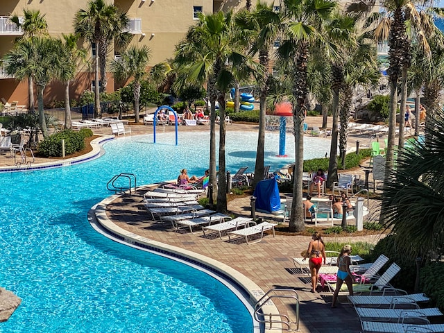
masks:
[(106, 142), (115, 139), (114, 135), (101, 135), (96, 139), (92, 140), (90, 145), (92, 146), (92, 151), (89, 151), (86, 154), (71, 157), (67, 160), (57, 160), (51, 162), (43, 162), (37, 164), (31, 164), (30, 166), (11, 166), (11, 167), (0, 167), (0, 173), (6, 172), (24, 172), (24, 171), (36, 171), (36, 170), (44, 170), (44, 169), (53, 169), (53, 168), (62, 168), (62, 167), (70, 167), (71, 165), (89, 162), (91, 160), (95, 160), (96, 158), (102, 155), (101, 147)]

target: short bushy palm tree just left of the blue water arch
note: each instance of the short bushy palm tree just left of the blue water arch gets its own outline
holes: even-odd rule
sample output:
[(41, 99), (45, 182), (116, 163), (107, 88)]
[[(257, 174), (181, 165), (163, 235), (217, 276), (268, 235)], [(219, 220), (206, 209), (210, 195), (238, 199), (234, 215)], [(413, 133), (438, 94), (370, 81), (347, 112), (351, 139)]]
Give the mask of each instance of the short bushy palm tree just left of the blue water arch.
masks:
[(151, 58), (151, 50), (144, 45), (142, 48), (130, 46), (128, 50), (121, 53), (119, 60), (111, 62), (111, 70), (117, 80), (128, 80), (134, 78), (133, 94), (134, 94), (134, 112), (135, 122), (139, 122), (139, 98), (140, 84), (146, 76), (146, 67)]

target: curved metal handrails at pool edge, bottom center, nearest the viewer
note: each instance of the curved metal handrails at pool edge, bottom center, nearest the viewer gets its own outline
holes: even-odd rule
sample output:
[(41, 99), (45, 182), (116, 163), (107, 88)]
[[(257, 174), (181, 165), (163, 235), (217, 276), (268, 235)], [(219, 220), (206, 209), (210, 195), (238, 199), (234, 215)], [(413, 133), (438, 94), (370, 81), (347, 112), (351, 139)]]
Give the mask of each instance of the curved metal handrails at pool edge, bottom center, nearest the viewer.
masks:
[[(293, 292), (295, 295), (270, 295), (270, 293), (276, 292), (276, 291), (285, 291), (285, 292)], [(296, 300), (296, 322), (291, 322), (289, 319), (289, 316), (286, 314), (264, 314), (261, 312), (259, 314), (259, 311), (261, 311), (262, 306), (266, 305), (268, 301), (271, 301), (273, 298), (293, 298)], [(259, 318), (262, 317), (262, 318)], [(268, 316), (268, 320), (265, 319), (265, 316)], [(273, 317), (279, 317), (279, 320), (273, 320)], [(299, 330), (299, 296), (296, 290), (294, 289), (281, 289), (281, 288), (273, 288), (268, 290), (262, 298), (260, 298), (256, 304), (255, 304), (255, 312), (254, 312), (254, 318), (258, 323), (268, 323), (269, 327), (268, 330), (273, 330), (273, 323), (279, 323), (281, 325), (286, 325), (287, 330), (291, 330), (291, 324), (296, 323), (296, 331)], [(283, 320), (284, 319), (284, 320)]]

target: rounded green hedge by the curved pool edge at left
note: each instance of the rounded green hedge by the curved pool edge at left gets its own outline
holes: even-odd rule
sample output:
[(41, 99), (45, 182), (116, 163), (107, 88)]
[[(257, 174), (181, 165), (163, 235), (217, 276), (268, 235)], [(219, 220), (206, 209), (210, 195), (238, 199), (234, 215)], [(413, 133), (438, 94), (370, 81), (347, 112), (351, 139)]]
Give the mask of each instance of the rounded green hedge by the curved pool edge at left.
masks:
[[(83, 133), (85, 133), (84, 131)], [(44, 141), (40, 142), (38, 151), (44, 157), (61, 157), (62, 156), (62, 139), (65, 140), (65, 155), (71, 155), (76, 151), (85, 148), (85, 137), (82, 133), (73, 130), (63, 130), (55, 133)]]

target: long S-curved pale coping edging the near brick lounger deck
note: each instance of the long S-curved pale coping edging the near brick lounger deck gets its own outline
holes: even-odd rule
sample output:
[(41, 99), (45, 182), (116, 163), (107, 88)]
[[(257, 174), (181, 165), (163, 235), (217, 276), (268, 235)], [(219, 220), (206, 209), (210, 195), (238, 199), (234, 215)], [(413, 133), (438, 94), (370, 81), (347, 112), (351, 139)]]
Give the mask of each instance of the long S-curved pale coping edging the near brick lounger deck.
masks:
[[(223, 264), (222, 262), (219, 262), (216, 259), (212, 259), (210, 257), (207, 257), (205, 255), (200, 255), (199, 253), (195, 253), (190, 250), (185, 250), (184, 248), (180, 248), (178, 246), (172, 246), (169, 244), (162, 243), (160, 241), (155, 241), (153, 239), (148, 239), (146, 237), (142, 237), (139, 234), (135, 234), (133, 232), (130, 232), (128, 230), (125, 230), (123, 228), (120, 228), (118, 225), (116, 225), (114, 222), (112, 222), (108, 215), (106, 214), (106, 206), (112, 203), (114, 200), (117, 200), (117, 198), (121, 197), (119, 194), (114, 194), (112, 196), (109, 196), (108, 198), (105, 198), (101, 200), (99, 203), (94, 205), (91, 210), (88, 212), (88, 220), (91, 223), (91, 220), (94, 219), (96, 223), (101, 225), (103, 229), (105, 229), (106, 232), (110, 232), (110, 234), (117, 234), (119, 237), (123, 237), (123, 240), (121, 240), (121, 244), (128, 244), (132, 245), (137, 243), (143, 244), (145, 246), (149, 246), (153, 248), (153, 252), (158, 253), (167, 253), (170, 254), (172, 257), (183, 257), (185, 258), (186, 262), (196, 261), (201, 264), (201, 267), (205, 270), (210, 271), (216, 271), (219, 272), (219, 278), (225, 280), (223, 278), (223, 275), (227, 275), (228, 278), (230, 278), (232, 281), (234, 281), (236, 284), (239, 285), (242, 289), (244, 289), (244, 292), (247, 293), (248, 302), (250, 302), (251, 307), (255, 306), (255, 303), (262, 298), (262, 296), (265, 295), (265, 292), (260, 288), (253, 280), (250, 280), (250, 278), (247, 278), (246, 275), (240, 273), (239, 271), (236, 271), (234, 268), (228, 266), (227, 264)], [(106, 237), (108, 235), (105, 234)], [(173, 258), (172, 258), (173, 259)], [(188, 259), (188, 260), (187, 260)], [(228, 283), (228, 282), (226, 282)], [(270, 304), (271, 303), (271, 304)], [(266, 305), (262, 306), (262, 312), (264, 314), (279, 314), (280, 311), (278, 310), (278, 307), (274, 305), (272, 301), (266, 302)], [(253, 316), (252, 316), (253, 317)], [(259, 324), (257, 321), (255, 321), (255, 318), (253, 319), (253, 323)], [(276, 323), (277, 324), (277, 323)], [(254, 327), (254, 325), (253, 325)], [(262, 332), (262, 331), (261, 331)], [(278, 325), (276, 327), (273, 327), (273, 330), (268, 330), (265, 328), (263, 331), (264, 333), (271, 333), (271, 332), (282, 332), (282, 328), (278, 328)]]

